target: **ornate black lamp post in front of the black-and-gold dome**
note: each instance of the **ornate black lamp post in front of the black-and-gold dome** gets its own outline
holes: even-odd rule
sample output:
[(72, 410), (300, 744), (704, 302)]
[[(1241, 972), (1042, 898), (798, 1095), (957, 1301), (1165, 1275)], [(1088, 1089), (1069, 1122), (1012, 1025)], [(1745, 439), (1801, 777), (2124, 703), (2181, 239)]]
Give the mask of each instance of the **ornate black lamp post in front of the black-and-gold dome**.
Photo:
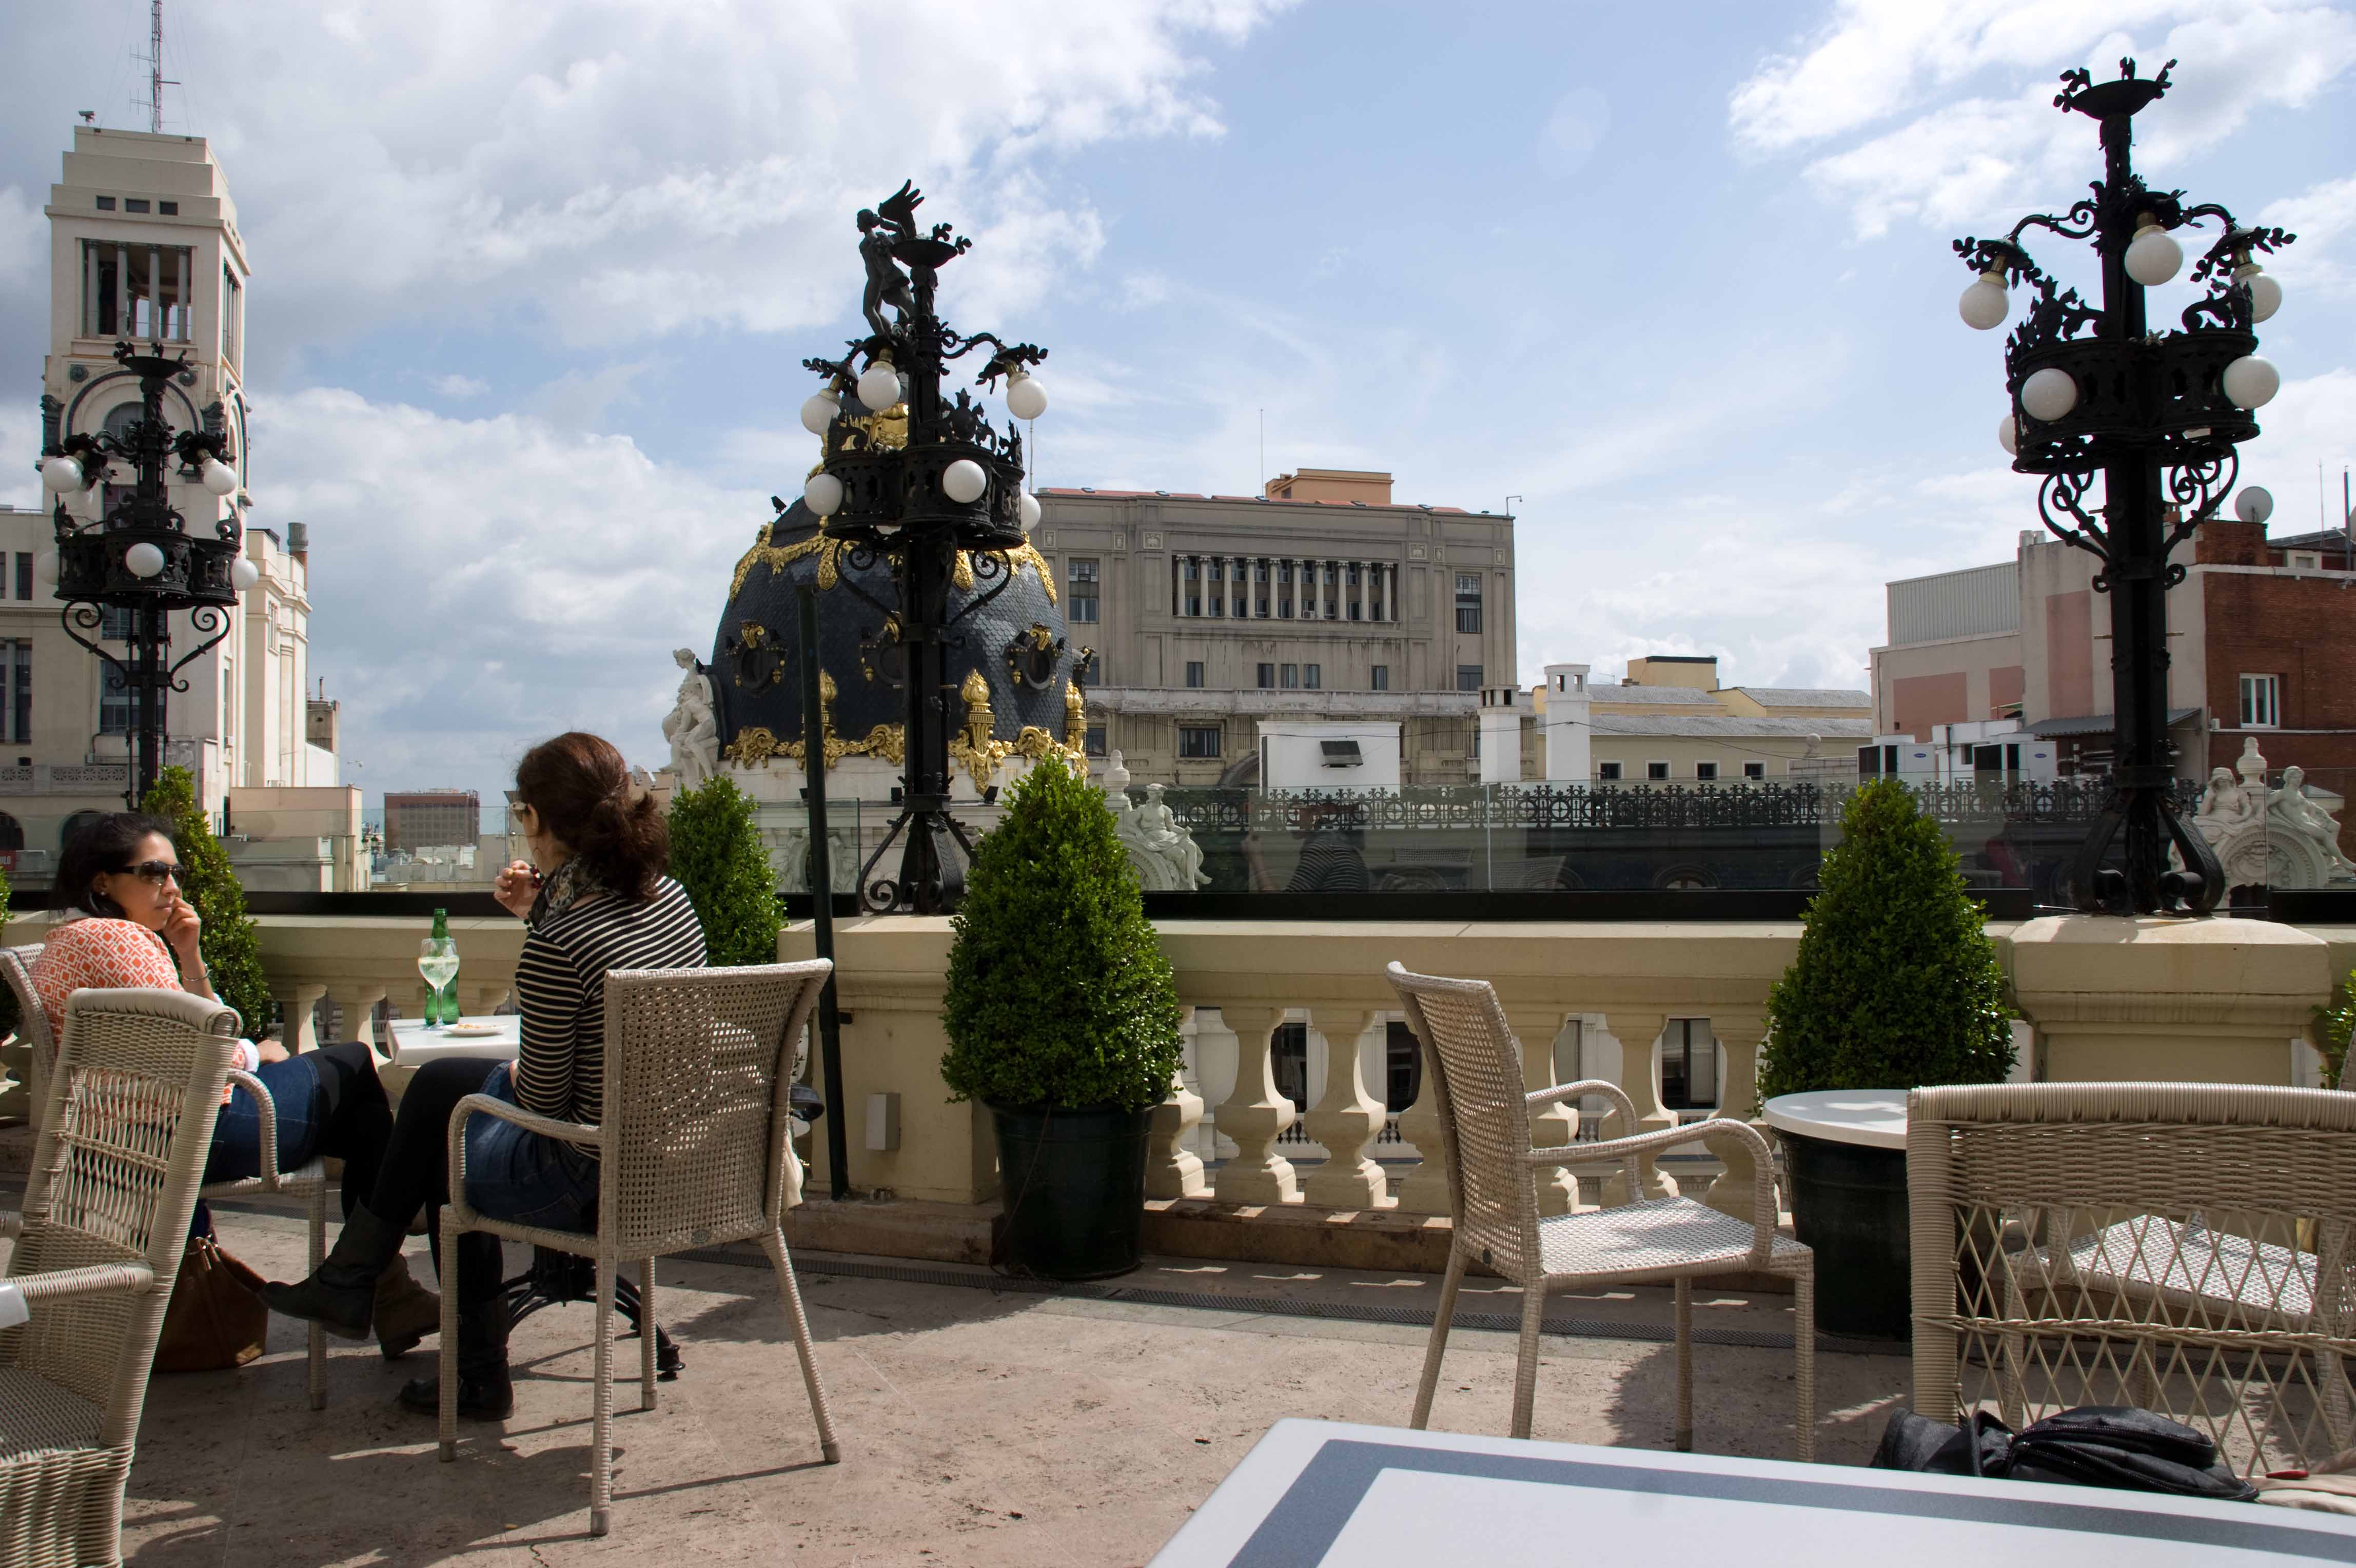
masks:
[[(881, 626), (865, 652), (898, 669), (907, 697), (905, 775), (900, 815), (860, 869), (860, 890), (872, 909), (952, 909), (964, 890), (957, 850), (971, 859), (973, 843), (949, 815), (952, 713), (961, 697), (947, 678), (947, 652), (961, 638), (957, 626), (1013, 582), (1004, 551), (1023, 544), (1039, 518), (1039, 501), (1023, 490), (1023, 438), (1008, 421), (990, 426), (973, 396), (942, 396), (949, 360), (982, 344), (992, 348), (975, 384), (994, 388), (1006, 377), (1006, 407), (1015, 419), (1046, 412), (1046, 393), (1030, 370), (1046, 358), (1032, 344), (1006, 344), (992, 332), (957, 332), (933, 308), (938, 271), (973, 245), (949, 238), (949, 224), (916, 228), (924, 195), (902, 184), (888, 200), (860, 212), (860, 259), (867, 264), (862, 313), (872, 332), (851, 339), (841, 360), (803, 360), (827, 377), (827, 386), (801, 410), (803, 426), (825, 438), (825, 457), (803, 485), (803, 501), (822, 518), (832, 539), (843, 542), (841, 582), (865, 598)], [(900, 268), (907, 268), (905, 273)], [(886, 318), (886, 308), (891, 315)], [(865, 414), (853, 412), (855, 398)], [(888, 436), (898, 419), (905, 438)], [(949, 589), (968, 558), (975, 593), (954, 612)], [(855, 572), (886, 563), (898, 605), (886, 605), (858, 586)], [(952, 706), (954, 704), (954, 706)], [(806, 758), (822, 768), (820, 758)], [(900, 841), (900, 873), (876, 878), (874, 869)]]

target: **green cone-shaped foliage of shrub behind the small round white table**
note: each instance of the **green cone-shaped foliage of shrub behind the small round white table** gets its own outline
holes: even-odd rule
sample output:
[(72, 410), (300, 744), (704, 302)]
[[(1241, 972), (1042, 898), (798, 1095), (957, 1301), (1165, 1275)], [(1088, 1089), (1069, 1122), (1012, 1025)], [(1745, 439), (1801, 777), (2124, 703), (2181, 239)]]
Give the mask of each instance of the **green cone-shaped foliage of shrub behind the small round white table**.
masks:
[(2000, 1083), (2012, 1008), (1955, 850), (1897, 779), (1840, 815), (1800, 954), (1767, 994), (1760, 1099)]

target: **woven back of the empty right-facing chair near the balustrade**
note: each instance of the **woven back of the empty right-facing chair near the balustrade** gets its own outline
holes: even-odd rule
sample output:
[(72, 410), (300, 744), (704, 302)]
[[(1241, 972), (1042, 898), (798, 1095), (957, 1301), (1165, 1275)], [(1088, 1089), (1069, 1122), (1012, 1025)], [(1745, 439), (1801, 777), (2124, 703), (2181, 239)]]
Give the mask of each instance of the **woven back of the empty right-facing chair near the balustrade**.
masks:
[(1458, 1245), (1498, 1274), (1522, 1278), (1538, 1264), (1538, 1187), (1522, 1161), (1529, 1111), (1505, 1010), (1487, 979), (1411, 975), (1397, 963), (1388, 975), (1423, 1043), (1423, 1081), (1440, 1111)]

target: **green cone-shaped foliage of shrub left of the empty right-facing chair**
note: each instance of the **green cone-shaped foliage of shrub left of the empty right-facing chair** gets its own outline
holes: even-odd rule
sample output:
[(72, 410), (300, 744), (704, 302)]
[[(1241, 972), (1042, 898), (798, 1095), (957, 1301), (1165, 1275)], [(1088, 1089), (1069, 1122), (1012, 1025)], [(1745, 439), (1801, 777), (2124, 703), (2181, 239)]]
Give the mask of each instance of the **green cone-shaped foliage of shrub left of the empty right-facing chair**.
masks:
[(1180, 1057), (1178, 984), (1103, 791), (1041, 758), (973, 855), (952, 921), (952, 1097), (1145, 1109)]

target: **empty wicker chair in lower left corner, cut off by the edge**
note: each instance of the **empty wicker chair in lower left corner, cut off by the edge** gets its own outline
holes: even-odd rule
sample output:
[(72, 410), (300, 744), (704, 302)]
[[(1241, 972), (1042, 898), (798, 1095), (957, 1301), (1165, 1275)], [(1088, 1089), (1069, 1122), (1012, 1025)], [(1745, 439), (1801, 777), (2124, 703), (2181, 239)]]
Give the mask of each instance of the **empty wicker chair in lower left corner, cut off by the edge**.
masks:
[(179, 1276), (238, 1015), (179, 991), (78, 991), (33, 1142), (0, 1333), (0, 1563), (120, 1563), (155, 1335)]

